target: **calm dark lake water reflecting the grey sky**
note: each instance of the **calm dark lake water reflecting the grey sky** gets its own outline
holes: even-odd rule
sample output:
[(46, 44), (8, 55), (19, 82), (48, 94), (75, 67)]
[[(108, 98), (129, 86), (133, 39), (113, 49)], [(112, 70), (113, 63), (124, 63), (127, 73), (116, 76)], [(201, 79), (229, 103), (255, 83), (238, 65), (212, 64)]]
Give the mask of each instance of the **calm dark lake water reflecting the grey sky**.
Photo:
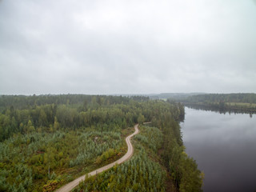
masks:
[(183, 142), (205, 173), (203, 190), (256, 191), (256, 114), (185, 110)]

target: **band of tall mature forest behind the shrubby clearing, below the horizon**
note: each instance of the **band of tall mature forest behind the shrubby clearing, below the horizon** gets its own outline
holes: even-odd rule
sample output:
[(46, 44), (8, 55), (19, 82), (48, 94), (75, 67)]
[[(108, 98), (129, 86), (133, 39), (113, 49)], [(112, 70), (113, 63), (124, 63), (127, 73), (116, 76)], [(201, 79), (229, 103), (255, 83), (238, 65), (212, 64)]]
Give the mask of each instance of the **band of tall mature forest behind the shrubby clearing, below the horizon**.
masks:
[[(149, 98), (134, 96), (42, 95), (1, 96), (0, 141), (13, 134), (75, 130), (86, 126), (131, 126), (141, 109), (135, 104)], [(129, 107), (131, 106), (131, 107)], [(150, 118), (150, 117), (146, 117)]]

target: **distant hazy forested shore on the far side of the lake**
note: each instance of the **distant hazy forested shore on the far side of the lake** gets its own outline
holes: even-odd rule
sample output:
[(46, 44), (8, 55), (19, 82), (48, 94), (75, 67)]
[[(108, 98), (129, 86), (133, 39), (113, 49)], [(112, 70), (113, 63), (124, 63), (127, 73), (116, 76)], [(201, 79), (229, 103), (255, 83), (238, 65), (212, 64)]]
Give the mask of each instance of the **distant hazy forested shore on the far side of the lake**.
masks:
[(206, 110), (256, 113), (256, 94), (198, 94), (174, 100)]

